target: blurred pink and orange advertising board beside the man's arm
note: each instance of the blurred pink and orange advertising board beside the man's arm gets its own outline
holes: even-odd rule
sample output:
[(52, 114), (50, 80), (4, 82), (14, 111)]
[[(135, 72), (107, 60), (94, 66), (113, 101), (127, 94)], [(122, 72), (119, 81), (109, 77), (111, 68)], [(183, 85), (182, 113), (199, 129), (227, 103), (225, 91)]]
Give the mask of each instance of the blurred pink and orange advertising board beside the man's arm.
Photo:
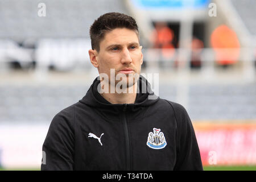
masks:
[(194, 122), (201, 159), (207, 165), (255, 165), (256, 122)]

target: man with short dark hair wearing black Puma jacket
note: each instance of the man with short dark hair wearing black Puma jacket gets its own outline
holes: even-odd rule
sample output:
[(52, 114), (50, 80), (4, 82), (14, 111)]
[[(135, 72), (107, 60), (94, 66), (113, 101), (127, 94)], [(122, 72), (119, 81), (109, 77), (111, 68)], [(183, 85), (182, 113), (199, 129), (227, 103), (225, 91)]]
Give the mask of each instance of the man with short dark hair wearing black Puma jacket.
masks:
[(53, 118), (42, 170), (202, 170), (184, 107), (155, 96), (138, 77), (143, 55), (135, 20), (104, 14), (90, 38), (100, 76), (82, 100)]

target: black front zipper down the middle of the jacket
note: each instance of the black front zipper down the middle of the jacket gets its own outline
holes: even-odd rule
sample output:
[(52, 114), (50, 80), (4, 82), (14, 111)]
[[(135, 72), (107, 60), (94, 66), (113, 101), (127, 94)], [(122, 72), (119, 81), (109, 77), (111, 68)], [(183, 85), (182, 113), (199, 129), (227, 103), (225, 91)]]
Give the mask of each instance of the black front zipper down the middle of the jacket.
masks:
[(126, 169), (129, 171), (131, 169), (130, 165), (130, 139), (128, 133), (128, 123), (126, 119), (126, 109), (127, 104), (123, 104), (123, 126), (125, 130), (125, 144), (126, 144)]

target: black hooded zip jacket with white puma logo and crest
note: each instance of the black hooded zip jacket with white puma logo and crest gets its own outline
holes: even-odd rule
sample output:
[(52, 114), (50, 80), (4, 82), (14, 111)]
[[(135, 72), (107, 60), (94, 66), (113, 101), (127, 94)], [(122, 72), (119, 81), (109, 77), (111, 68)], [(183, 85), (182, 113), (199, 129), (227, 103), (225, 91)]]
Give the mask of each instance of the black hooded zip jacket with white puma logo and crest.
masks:
[[(76, 104), (52, 119), (42, 170), (203, 170), (195, 132), (183, 106), (147, 93), (135, 104), (110, 104), (97, 78)], [(155, 96), (155, 95), (154, 95)]]

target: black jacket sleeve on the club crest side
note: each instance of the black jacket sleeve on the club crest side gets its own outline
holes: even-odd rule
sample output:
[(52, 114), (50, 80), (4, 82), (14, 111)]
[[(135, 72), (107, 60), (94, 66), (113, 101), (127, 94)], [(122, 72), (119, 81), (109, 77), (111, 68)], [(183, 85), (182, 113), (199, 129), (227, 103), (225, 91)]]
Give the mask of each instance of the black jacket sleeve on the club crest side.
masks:
[(191, 119), (183, 106), (176, 103), (172, 103), (172, 106), (177, 122), (177, 159), (174, 170), (202, 171), (203, 165)]

